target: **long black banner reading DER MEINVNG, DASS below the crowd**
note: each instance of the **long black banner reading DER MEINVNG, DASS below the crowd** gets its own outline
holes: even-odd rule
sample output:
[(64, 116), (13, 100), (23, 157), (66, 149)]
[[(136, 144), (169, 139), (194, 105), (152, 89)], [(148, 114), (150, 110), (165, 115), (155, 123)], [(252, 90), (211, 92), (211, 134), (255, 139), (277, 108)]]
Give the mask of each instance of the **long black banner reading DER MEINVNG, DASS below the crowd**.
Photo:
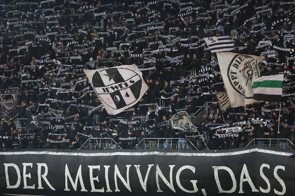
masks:
[(1, 151), (0, 193), (294, 195), (291, 153), (261, 146), (221, 151)]

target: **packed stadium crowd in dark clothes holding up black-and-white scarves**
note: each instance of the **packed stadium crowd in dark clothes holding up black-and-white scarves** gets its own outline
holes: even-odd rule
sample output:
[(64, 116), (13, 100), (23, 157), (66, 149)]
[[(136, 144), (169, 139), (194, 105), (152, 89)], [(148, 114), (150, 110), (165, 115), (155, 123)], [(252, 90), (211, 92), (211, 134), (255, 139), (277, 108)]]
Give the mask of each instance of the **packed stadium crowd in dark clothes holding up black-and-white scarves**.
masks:
[[(2, 119), (0, 148), (78, 149), (88, 138), (109, 137), (127, 149), (143, 138), (175, 138), (178, 144), (190, 140), (198, 149), (206, 143), (217, 150), (245, 147), (253, 138), (287, 139), (294, 134), (288, 101), (295, 92), (294, 4), (15, 0), (0, 5), (0, 89), (20, 88), (15, 112), (19, 124)], [(283, 93), (290, 95), (280, 103), (254, 103), (221, 113), (215, 92), (225, 92), (225, 87), (216, 56), (203, 38), (222, 35), (234, 40), (231, 52), (265, 55), (261, 74), (287, 70)], [(148, 90), (132, 108), (109, 115), (83, 69), (133, 64), (142, 71)], [(192, 116), (206, 102), (213, 102), (210, 113), (200, 122), (193, 120), (205, 137), (171, 127), (169, 119), (177, 111), (186, 109)], [(28, 128), (27, 112), (40, 117), (40, 128)], [(223, 130), (238, 126), (243, 131)]]

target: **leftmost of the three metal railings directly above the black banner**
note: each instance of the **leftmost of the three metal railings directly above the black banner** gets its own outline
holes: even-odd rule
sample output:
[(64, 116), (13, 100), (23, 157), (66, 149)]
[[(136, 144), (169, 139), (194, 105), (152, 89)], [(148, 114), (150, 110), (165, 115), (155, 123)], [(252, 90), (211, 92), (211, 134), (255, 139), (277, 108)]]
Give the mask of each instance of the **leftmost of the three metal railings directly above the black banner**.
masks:
[(121, 149), (113, 138), (89, 138), (79, 150)]

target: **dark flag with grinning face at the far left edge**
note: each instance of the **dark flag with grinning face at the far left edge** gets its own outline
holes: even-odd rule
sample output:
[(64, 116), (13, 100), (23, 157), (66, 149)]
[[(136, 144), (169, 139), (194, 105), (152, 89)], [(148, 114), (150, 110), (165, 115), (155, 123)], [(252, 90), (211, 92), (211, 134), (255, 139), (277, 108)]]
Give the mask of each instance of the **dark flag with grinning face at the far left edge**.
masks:
[(1, 118), (10, 118), (16, 109), (19, 88), (0, 89)]

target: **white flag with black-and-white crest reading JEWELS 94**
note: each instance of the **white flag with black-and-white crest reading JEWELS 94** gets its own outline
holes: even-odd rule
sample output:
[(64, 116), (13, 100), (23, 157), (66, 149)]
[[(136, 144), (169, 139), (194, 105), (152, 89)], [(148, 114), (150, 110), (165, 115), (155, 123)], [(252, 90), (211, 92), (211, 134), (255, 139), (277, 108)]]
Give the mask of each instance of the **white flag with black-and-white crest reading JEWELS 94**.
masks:
[(84, 72), (110, 115), (135, 105), (148, 89), (135, 64)]

